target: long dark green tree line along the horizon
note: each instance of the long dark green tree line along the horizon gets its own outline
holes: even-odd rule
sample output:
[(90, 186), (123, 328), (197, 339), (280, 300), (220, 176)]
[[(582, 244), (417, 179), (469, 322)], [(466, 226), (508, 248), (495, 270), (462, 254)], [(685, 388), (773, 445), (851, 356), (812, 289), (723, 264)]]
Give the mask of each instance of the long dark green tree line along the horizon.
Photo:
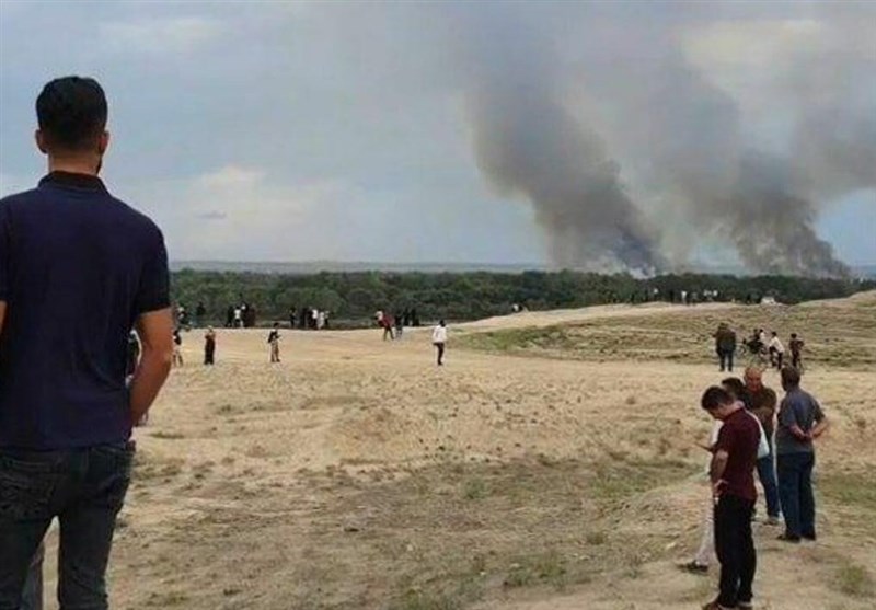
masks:
[(174, 301), (193, 310), (203, 303), (207, 321), (221, 325), (229, 306), (241, 298), (257, 312), (258, 323), (286, 321), (290, 308), (331, 312), (334, 327), (362, 326), (378, 310), (416, 309), (424, 322), (439, 318), (463, 321), (529, 310), (653, 300), (782, 303), (846, 297), (876, 288), (875, 280), (814, 279), (786, 276), (664, 275), (635, 278), (627, 274), (579, 272), (474, 273), (319, 273), (280, 275), (196, 272), (172, 276)]

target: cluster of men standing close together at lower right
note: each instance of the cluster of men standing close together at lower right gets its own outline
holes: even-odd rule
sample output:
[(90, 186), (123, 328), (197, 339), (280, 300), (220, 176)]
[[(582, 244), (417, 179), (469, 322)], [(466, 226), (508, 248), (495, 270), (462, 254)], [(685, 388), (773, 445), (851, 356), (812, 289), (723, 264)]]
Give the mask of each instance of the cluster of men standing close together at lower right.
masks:
[(782, 368), (781, 380), (785, 396), (777, 411), (776, 393), (763, 384), (756, 367), (746, 369), (745, 381), (724, 379), (701, 399), (701, 406), (715, 419), (704, 446), (712, 453), (712, 495), (700, 549), (682, 567), (700, 574), (707, 573), (715, 559), (721, 564), (719, 594), (704, 610), (752, 608), (754, 471), (765, 496), (765, 523), (780, 526), (784, 519), (777, 539), (816, 540), (814, 440), (828, 428), (828, 421), (818, 401), (800, 388), (799, 370)]

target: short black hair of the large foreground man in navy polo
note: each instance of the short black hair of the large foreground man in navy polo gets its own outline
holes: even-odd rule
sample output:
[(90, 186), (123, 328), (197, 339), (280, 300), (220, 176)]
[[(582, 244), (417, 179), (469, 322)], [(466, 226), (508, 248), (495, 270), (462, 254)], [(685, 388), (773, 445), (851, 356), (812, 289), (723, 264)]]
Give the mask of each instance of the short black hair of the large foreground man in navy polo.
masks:
[(92, 78), (55, 79), (36, 99), (36, 119), (49, 147), (89, 148), (106, 128), (106, 95)]

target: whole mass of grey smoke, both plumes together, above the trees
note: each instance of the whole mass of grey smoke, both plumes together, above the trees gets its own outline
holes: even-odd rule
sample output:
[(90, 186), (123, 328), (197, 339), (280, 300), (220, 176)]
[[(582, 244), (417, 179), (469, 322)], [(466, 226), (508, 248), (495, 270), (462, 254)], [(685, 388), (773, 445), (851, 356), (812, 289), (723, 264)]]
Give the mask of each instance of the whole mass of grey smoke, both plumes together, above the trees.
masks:
[[(809, 27), (800, 51), (763, 58), (782, 71), (763, 96), (791, 134), (768, 147), (739, 101), (687, 56), (680, 32), (710, 23), (701, 11), (685, 16), (687, 7), (613, 21), (623, 15), (579, 7), (586, 19), (566, 12), (576, 25), (558, 28), (563, 15), (545, 26), (507, 4), (457, 11), (481, 171), (531, 203), (561, 266), (667, 268), (665, 241), (684, 239), (660, 222), (672, 211), (692, 242), (723, 241), (751, 271), (846, 275), (814, 222), (822, 206), (876, 183), (876, 43), (861, 15), (819, 5), (818, 21), (800, 22)], [(850, 47), (855, 27), (863, 38)], [(659, 199), (634, 202), (622, 177)]]

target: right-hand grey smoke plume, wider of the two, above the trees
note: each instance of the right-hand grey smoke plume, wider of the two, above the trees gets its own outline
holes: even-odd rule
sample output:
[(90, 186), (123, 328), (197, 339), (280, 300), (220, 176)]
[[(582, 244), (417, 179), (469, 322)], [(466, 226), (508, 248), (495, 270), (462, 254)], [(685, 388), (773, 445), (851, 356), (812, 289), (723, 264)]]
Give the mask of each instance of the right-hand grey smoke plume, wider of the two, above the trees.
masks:
[[(828, 198), (874, 184), (874, 115), (855, 114), (849, 103), (860, 101), (850, 88), (873, 91), (872, 71), (854, 57), (828, 57), (827, 72), (844, 74), (844, 82), (799, 99), (773, 92), (771, 101), (796, 118), (796, 147), (764, 152), (737, 101), (684, 58), (672, 28), (600, 42), (620, 47), (608, 62), (604, 54), (581, 61), (602, 108), (600, 124), (691, 230), (723, 238), (754, 272), (848, 275), (814, 226)], [(636, 53), (643, 47), (647, 54)], [(798, 87), (812, 87), (805, 70), (797, 77)], [(861, 104), (873, 105), (872, 96)]]

